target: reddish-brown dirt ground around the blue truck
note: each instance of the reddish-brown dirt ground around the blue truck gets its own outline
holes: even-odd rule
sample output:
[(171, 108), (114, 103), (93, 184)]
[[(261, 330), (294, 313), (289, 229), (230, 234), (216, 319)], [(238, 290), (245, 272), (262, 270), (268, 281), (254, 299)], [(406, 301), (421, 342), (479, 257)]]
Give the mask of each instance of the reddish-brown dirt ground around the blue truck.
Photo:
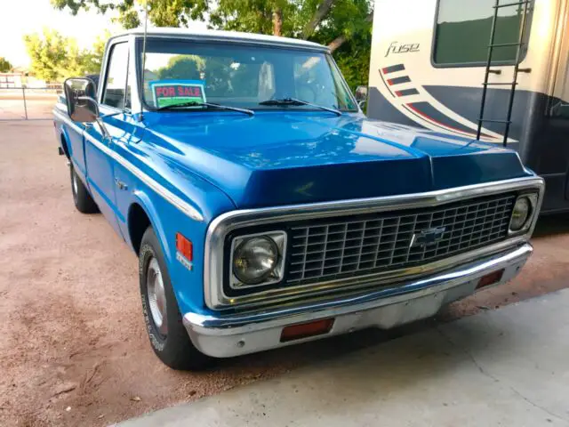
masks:
[[(52, 122), (0, 122), (0, 153), (2, 426), (107, 425), (412, 333), (363, 331), (172, 371), (148, 345), (136, 256), (100, 214), (73, 206)], [(568, 287), (569, 216), (541, 220), (533, 244), (519, 278), (438, 321)]]

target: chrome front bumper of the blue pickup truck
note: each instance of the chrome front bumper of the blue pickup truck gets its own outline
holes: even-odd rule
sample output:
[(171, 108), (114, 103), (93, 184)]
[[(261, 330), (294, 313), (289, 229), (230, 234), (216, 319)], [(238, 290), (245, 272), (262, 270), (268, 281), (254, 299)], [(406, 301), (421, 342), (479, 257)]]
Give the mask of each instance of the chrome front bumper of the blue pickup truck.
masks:
[[(493, 286), (509, 281), (532, 252), (532, 246), (525, 243), (427, 278), (335, 300), (233, 315), (187, 313), (184, 326), (197, 350), (216, 358), (276, 349), (370, 326), (387, 329), (433, 316), (443, 305), (474, 294), (478, 279), (493, 271), (504, 269), (501, 280)], [(334, 318), (329, 333), (281, 342), (284, 326), (321, 318)]]

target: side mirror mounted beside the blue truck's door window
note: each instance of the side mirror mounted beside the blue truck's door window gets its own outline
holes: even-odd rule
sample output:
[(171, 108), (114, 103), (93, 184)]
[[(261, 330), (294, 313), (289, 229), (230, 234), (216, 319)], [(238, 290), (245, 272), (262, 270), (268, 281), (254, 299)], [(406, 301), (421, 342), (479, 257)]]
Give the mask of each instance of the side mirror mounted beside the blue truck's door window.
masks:
[(92, 123), (99, 119), (95, 84), (90, 78), (68, 78), (63, 84), (68, 115), (74, 122)]

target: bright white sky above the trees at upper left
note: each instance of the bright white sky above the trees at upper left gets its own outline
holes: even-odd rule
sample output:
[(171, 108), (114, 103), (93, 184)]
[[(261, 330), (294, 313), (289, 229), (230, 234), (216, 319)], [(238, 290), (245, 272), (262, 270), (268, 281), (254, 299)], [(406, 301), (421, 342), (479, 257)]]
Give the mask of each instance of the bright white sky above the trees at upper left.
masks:
[(44, 27), (75, 37), (80, 47), (91, 47), (105, 28), (111, 33), (120, 31), (120, 26), (111, 22), (110, 13), (101, 15), (92, 10), (73, 16), (68, 10), (53, 9), (50, 0), (0, 0), (0, 11), (0, 56), (15, 67), (29, 65), (22, 37), (41, 33)]

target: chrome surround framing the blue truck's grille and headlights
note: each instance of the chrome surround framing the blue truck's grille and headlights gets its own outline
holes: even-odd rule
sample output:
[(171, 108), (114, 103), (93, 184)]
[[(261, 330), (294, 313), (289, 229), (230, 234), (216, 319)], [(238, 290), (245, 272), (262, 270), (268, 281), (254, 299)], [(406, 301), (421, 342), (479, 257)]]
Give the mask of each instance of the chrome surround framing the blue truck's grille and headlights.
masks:
[(204, 302), (212, 310), (261, 310), (261, 308), (281, 303), (298, 303), (307, 298), (328, 298), (331, 293), (361, 292), (373, 284), (393, 283), (446, 270), (461, 263), (470, 262), (483, 256), (525, 244), (531, 237), (537, 215), (524, 232), (492, 245), (474, 249), (465, 254), (454, 255), (436, 262), (428, 262), (408, 269), (398, 269), (358, 278), (339, 279), (318, 283), (317, 286), (268, 286), (254, 294), (228, 296), (224, 291), (223, 271), (226, 259), (226, 237), (239, 229), (264, 227), (278, 228), (284, 222), (321, 219), (346, 215), (369, 214), (370, 212), (390, 212), (414, 209), (425, 206), (445, 205), (446, 203), (474, 197), (494, 195), (504, 192), (536, 192), (539, 197), (535, 210), (539, 213), (543, 200), (544, 181), (541, 177), (528, 175), (504, 181), (434, 190), (425, 193), (405, 194), (385, 197), (372, 197), (352, 200), (338, 200), (305, 205), (282, 205), (254, 209), (230, 211), (212, 219), (204, 242)]

